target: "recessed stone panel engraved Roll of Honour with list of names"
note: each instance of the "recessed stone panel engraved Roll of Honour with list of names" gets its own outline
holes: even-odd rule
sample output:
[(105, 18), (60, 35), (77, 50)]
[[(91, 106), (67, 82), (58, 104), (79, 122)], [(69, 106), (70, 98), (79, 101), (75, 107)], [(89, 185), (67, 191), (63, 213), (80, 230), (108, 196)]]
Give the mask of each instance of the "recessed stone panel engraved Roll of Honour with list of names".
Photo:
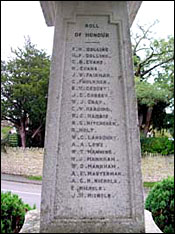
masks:
[[(95, 198), (99, 207), (104, 200), (113, 200), (114, 209), (129, 210), (117, 33), (108, 17), (78, 16), (76, 23), (68, 23), (64, 68), (69, 90), (64, 101), (71, 122), (66, 143), (68, 180), (71, 204)], [(119, 201), (116, 197), (121, 194), (117, 193), (122, 190), (124, 196)]]

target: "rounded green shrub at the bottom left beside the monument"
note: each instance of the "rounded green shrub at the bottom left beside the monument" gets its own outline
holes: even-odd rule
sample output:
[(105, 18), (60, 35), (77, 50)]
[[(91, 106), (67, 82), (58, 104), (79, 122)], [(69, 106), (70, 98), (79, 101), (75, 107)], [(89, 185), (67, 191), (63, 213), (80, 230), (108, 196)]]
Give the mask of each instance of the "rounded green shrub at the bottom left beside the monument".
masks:
[(25, 213), (31, 209), (18, 195), (1, 192), (1, 233), (19, 233)]

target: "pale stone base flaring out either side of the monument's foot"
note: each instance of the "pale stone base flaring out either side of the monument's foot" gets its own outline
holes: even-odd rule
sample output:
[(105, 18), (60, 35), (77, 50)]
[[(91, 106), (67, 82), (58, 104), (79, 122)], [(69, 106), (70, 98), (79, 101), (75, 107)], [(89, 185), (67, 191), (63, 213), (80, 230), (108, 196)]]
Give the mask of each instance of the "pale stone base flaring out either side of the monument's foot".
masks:
[[(28, 211), (20, 233), (39, 233), (39, 223), (40, 212), (38, 210)], [(145, 210), (145, 233), (162, 233), (148, 210)]]

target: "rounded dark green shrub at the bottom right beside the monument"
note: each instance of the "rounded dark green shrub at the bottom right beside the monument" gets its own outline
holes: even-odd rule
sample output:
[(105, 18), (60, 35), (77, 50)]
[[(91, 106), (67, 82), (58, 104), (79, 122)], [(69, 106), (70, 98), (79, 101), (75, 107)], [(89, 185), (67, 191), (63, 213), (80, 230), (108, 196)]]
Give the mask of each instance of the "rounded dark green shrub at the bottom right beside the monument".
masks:
[(174, 233), (174, 178), (156, 183), (148, 194), (145, 209), (163, 233)]

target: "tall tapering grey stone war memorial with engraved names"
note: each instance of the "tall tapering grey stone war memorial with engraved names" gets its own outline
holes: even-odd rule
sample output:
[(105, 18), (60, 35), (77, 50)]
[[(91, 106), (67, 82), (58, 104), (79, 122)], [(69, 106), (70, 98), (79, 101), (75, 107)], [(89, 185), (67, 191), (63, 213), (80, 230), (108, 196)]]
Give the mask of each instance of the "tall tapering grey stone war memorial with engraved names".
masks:
[(55, 26), (43, 233), (144, 233), (129, 28), (141, 2), (41, 1)]

